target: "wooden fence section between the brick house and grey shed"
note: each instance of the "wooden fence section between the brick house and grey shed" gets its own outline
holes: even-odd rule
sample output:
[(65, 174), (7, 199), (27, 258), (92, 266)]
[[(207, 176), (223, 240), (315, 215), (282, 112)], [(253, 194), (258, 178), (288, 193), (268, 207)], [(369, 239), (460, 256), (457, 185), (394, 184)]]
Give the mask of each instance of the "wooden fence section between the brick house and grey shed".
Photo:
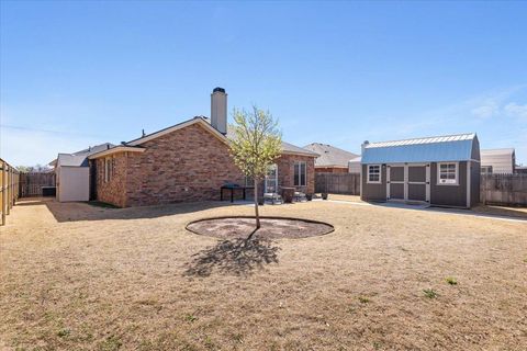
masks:
[(315, 193), (360, 195), (360, 173), (316, 173)]

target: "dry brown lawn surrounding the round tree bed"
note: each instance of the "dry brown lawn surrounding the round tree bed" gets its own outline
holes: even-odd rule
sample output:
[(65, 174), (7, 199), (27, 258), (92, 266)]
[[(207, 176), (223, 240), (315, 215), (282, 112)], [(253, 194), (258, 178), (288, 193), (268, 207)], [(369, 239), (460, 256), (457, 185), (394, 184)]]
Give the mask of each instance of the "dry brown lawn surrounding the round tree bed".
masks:
[(526, 349), (526, 222), (311, 202), (262, 213), (334, 233), (184, 229), (251, 211), (21, 203), (0, 228), (0, 349)]

